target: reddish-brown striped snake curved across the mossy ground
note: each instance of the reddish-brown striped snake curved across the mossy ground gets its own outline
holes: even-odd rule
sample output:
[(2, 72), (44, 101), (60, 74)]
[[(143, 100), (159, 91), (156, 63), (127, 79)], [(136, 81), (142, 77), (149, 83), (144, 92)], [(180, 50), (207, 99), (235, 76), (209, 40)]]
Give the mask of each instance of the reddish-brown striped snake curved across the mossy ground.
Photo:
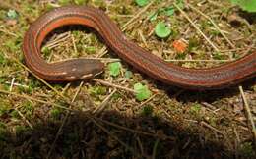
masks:
[(256, 76), (256, 51), (215, 68), (183, 68), (167, 63), (129, 41), (103, 11), (92, 7), (68, 6), (54, 9), (38, 18), (24, 37), (26, 64), (41, 79), (92, 79), (103, 71), (104, 65), (98, 60), (72, 59), (52, 64), (43, 60), (40, 49), (46, 35), (57, 27), (69, 25), (94, 28), (121, 59), (140, 72), (167, 84), (186, 89), (220, 89)]

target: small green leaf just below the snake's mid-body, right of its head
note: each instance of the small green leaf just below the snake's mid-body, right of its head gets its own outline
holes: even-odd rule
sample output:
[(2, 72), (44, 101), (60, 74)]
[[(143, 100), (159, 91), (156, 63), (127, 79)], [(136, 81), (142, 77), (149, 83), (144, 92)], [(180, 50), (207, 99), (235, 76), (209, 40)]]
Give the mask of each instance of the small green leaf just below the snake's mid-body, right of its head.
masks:
[(134, 84), (134, 90), (136, 99), (139, 101), (143, 101), (145, 99), (149, 99), (152, 95), (152, 92), (148, 89), (147, 85), (142, 85), (141, 83)]

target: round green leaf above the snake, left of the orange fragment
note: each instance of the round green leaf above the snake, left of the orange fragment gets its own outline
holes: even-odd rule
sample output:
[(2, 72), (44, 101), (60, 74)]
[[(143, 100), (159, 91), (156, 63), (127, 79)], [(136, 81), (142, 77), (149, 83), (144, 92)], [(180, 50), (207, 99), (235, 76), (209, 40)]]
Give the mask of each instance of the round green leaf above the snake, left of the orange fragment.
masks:
[(160, 38), (166, 38), (170, 35), (171, 30), (169, 27), (166, 27), (165, 23), (160, 22), (156, 27), (155, 27), (155, 33), (158, 37)]

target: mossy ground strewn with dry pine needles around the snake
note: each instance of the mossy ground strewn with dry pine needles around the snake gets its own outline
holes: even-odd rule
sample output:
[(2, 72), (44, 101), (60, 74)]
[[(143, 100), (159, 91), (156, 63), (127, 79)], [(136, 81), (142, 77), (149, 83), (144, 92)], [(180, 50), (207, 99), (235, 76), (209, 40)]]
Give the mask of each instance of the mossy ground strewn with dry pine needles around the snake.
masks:
[[(124, 61), (116, 78), (106, 69), (100, 80), (49, 83), (50, 87), (33, 77), (22, 65), (26, 30), (42, 13), (74, 3), (104, 10), (119, 27), (132, 20), (124, 30), (127, 38), (188, 68), (217, 66), (256, 47), (255, 15), (222, 0), (193, 0), (189, 5), (195, 9), (187, 5), (183, 9), (218, 50), (178, 10), (149, 21), (149, 15), (173, 1), (158, 0), (136, 17), (144, 8), (134, 0), (0, 0), (0, 158), (255, 158), (256, 145), (238, 86), (187, 91), (140, 74)], [(12, 20), (7, 16), (11, 9), (19, 14)], [(226, 38), (197, 10), (210, 17)], [(159, 22), (172, 29), (167, 39), (154, 34)], [(183, 53), (172, 47), (180, 39), (188, 45)], [(44, 46), (42, 54), (51, 62), (81, 56), (108, 62), (118, 58), (81, 27), (56, 30)], [(127, 71), (133, 73), (129, 79)], [(132, 88), (137, 82), (148, 85), (152, 98), (135, 99)], [(243, 90), (255, 121), (255, 81), (246, 81)]]

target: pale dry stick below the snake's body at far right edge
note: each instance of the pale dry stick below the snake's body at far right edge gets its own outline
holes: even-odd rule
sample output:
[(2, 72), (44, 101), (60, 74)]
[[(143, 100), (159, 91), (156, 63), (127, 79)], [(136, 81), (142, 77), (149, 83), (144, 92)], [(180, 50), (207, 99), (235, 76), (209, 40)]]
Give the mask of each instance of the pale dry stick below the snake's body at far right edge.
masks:
[(254, 142), (256, 143), (256, 128), (255, 128), (255, 123), (253, 121), (253, 117), (252, 117), (252, 114), (251, 114), (251, 109), (250, 109), (249, 104), (247, 102), (247, 99), (245, 97), (245, 94), (244, 94), (242, 86), (239, 86), (239, 90), (240, 90), (240, 93), (241, 93), (241, 96), (242, 96), (242, 100), (243, 100), (243, 103), (244, 103), (245, 111), (247, 113), (248, 121), (250, 122), (251, 127), (252, 127), (252, 133), (253, 133), (253, 137), (254, 137)]

